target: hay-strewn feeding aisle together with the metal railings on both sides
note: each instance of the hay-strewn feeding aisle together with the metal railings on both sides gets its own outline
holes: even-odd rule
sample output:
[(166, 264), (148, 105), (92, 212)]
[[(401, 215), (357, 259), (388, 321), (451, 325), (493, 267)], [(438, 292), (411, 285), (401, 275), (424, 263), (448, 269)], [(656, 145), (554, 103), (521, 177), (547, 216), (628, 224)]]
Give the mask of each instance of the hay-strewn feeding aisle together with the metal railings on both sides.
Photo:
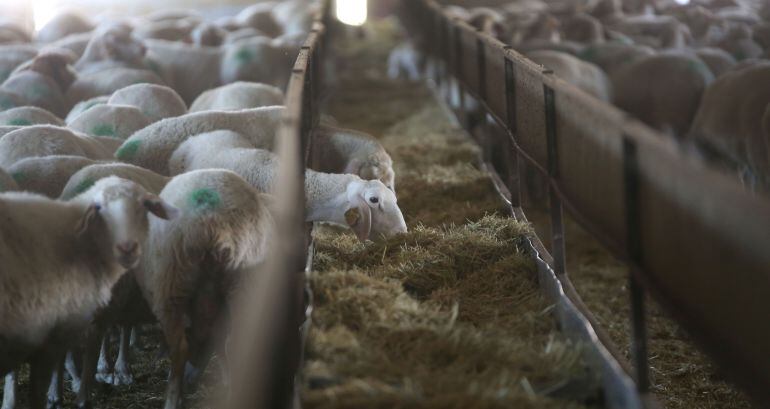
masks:
[[(655, 388), (651, 310), (767, 402), (765, 198), (433, 0), (402, 3), (406, 31), (392, 18), (344, 26), (332, 6), (289, 77), (276, 228), (232, 301), (228, 382), (207, 373), (191, 406), (700, 407)], [(428, 64), (417, 81), (388, 79), (406, 33)], [(389, 151), (408, 232), (364, 243), (305, 222), (325, 121)], [(162, 402), (162, 336), (141, 338), (136, 383), (95, 406)], [(717, 385), (706, 382), (726, 390), (714, 407), (746, 404)]]

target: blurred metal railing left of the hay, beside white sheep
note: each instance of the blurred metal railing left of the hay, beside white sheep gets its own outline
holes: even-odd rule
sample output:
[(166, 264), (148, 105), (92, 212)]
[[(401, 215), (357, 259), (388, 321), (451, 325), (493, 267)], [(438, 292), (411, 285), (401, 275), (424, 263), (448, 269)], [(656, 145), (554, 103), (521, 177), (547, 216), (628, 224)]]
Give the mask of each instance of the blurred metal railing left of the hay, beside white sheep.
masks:
[(312, 158), (312, 131), (319, 121), (320, 75), (329, 18), (323, 1), (301, 47), (286, 91), (277, 135), (279, 157), (273, 215), (276, 230), (269, 256), (253, 274), (235, 306), (230, 408), (289, 408), (298, 405), (295, 378), (301, 365), (303, 325), (309, 319), (305, 284), (310, 228), (305, 220), (305, 168)]

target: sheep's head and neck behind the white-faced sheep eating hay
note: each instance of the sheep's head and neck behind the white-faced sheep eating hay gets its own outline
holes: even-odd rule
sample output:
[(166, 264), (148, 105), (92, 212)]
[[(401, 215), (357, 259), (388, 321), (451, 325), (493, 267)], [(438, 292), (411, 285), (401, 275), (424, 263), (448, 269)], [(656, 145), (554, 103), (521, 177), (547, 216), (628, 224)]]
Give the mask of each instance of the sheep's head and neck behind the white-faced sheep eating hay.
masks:
[(313, 170), (352, 173), (364, 180), (379, 180), (395, 191), (393, 160), (377, 139), (363, 132), (322, 124), (314, 132)]

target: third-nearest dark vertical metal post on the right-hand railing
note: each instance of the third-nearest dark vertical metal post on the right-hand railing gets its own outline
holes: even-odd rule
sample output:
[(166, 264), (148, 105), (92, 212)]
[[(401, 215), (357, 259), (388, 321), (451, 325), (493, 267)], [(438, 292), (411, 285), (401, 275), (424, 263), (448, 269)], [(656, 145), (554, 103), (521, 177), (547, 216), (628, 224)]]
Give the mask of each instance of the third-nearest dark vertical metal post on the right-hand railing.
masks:
[(516, 138), (516, 74), (513, 70), (513, 61), (503, 56), (505, 66), (505, 124), (508, 134), (506, 143), (506, 156), (510, 159), (508, 162), (508, 175), (506, 184), (511, 192), (511, 205), (521, 207), (522, 175), (519, 165), (519, 152), (514, 146)]

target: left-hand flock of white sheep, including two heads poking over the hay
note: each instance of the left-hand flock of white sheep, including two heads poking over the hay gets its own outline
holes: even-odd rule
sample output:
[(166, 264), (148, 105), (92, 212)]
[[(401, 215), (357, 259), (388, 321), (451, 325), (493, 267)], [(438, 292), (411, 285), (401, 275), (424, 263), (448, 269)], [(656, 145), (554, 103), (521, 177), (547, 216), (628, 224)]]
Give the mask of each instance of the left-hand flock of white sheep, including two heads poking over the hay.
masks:
[[(32, 408), (61, 405), (65, 369), (79, 407), (94, 381), (130, 383), (131, 328), (146, 323), (168, 348), (167, 409), (181, 406), (186, 373), (213, 352), (226, 362), (228, 300), (274, 228), (270, 149), (315, 7), (98, 25), (66, 13), (34, 39), (0, 24), (3, 409), (26, 363)], [(406, 231), (383, 147), (333, 118), (316, 138), (307, 221), (362, 241)]]

